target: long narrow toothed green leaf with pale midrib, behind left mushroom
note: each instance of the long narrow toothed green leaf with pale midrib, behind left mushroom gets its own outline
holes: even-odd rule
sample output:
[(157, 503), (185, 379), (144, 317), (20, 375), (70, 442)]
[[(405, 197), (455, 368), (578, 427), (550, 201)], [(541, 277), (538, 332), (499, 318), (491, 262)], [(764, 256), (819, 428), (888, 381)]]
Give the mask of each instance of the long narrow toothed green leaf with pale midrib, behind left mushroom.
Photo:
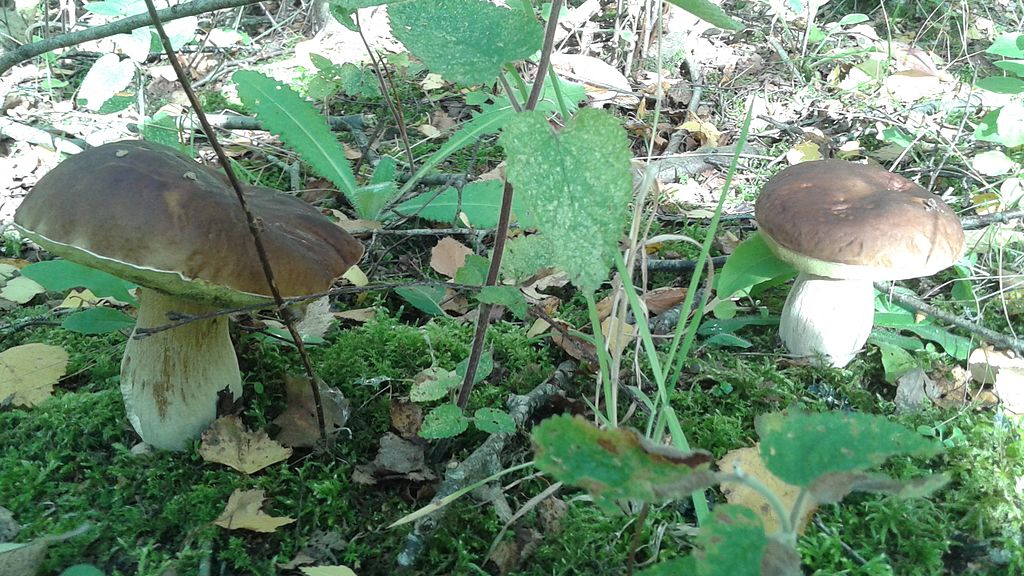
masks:
[(297, 92), (272, 78), (251, 70), (231, 76), (239, 97), (271, 134), (298, 153), (317, 174), (331, 180), (355, 203), (355, 176), (345, 151), (334, 137), (323, 115)]

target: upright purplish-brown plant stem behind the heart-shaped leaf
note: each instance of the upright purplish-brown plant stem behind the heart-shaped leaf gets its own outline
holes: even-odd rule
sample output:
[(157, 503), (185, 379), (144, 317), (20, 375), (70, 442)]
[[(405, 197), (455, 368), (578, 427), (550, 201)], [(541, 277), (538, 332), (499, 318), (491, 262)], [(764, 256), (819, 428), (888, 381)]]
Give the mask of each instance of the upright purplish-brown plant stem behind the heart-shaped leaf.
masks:
[[(548, 27), (544, 32), (544, 46), (541, 48), (541, 61), (537, 67), (537, 77), (534, 79), (534, 88), (529, 92), (529, 99), (523, 110), (534, 110), (538, 100), (541, 99), (541, 90), (544, 87), (544, 77), (548, 74), (548, 66), (551, 65), (551, 50), (555, 44), (555, 33), (558, 31), (558, 11), (562, 9), (562, 0), (551, 2), (551, 14), (548, 18)], [(567, 118), (565, 120), (568, 120)], [(498, 284), (498, 273), (502, 266), (502, 253), (505, 251), (505, 241), (508, 240), (509, 221), (512, 216), (512, 183), (508, 177), (505, 178), (505, 190), (502, 192), (502, 211), (498, 216), (498, 231), (495, 235), (495, 248), (490, 256), (490, 268), (487, 269), (487, 281), (484, 286), (495, 286)], [(459, 399), (456, 405), (460, 409), (466, 408), (469, 402), (469, 394), (473, 392), (473, 379), (476, 377), (476, 368), (480, 364), (480, 357), (483, 355), (483, 338), (487, 335), (487, 325), (490, 322), (492, 304), (480, 302), (478, 317), (476, 319), (476, 332), (473, 334), (473, 347), (469, 351), (469, 360), (466, 366), (466, 377), (462, 381), (462, 388), (459, 389)]]

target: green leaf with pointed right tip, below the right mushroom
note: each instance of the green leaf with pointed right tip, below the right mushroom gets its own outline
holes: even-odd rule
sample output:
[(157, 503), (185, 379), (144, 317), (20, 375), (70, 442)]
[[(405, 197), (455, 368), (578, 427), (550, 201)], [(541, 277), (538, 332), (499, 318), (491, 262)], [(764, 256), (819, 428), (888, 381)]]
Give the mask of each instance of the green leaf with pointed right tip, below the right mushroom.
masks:
[(755, 426), (768, 469), (801, 487), (827, 474), (873, 468), (890, 456), (932, 456), (942, 449), (874, 414), (776, 412), (759, 416)]

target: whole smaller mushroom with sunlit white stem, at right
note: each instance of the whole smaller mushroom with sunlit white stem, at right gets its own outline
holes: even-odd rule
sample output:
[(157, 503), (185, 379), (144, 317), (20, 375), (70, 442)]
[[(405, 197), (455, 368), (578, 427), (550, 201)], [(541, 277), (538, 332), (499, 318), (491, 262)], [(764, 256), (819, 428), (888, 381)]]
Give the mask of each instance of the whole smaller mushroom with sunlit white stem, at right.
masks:
[(800, 271), (782, 308), (782, 342), (827, 366), (846, 366), (867, 340), (873, 281), (931, 276), (964, 251), (953, 211), (879, 166), (796, 164), (768, 180), (755, 213), (771, 250)]

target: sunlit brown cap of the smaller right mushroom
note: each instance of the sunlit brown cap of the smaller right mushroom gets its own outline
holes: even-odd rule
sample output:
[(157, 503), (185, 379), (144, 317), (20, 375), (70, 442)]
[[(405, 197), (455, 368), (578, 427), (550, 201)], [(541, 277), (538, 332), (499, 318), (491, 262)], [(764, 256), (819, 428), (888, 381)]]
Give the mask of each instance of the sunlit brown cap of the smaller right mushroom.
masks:
[(779, 258), (826, 278), (930, 276), (964, 252), (964, 229), (949, 206), (880, 166), (796, 164), (768, 180), (755, 214)]

